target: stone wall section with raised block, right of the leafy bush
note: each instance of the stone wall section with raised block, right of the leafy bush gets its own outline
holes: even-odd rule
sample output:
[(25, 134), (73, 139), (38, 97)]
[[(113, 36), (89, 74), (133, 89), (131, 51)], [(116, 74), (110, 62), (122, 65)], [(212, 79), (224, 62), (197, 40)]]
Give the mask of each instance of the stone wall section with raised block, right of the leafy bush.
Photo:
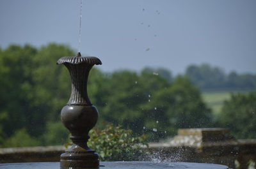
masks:
[(228, 129), (179, 129), (178, 135), (168, 143), (150, 143), (149, 150), (165, 161), (216, 163), (240, 169), (256, 161), (256, 139), (235, 140)]

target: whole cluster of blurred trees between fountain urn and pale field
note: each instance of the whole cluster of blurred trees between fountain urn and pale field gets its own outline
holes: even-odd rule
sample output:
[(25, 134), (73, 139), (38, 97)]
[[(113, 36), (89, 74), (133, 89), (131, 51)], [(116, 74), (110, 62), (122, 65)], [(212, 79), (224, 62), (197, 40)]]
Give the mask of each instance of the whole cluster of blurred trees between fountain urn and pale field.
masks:
[(104, 95), (98, 94), (102, 103), (96, 105), (100, 119), (122, 124), (136, 135), (146, 133), (151, 141), (175, 135), (177, 128), (206, 127), (211, 123), (211, 110), (205, 107), (198, 89), (184, 77), (169, 83), (150, 71), (143, 70), (140, 76), (118, 71), (105, 77), (102, 89), (99, 92)]

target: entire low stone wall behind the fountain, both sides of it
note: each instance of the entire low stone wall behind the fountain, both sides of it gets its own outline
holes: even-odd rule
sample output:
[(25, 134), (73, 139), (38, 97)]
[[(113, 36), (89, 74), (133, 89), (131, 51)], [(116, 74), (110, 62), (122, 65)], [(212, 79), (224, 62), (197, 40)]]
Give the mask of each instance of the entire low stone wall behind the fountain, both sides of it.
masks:
[[(22, 147), (0, 149), (0, 163), (60, 161), (64, 146)], [(235, 160), (240, 169), (248, 161), (256, 161), (256, 139), (235, 140), (228, 129), (179, 129), (171, 142), (149, 143), (148, 151), (153, 161), (184, 161), (216, 163), (234, 168)]]

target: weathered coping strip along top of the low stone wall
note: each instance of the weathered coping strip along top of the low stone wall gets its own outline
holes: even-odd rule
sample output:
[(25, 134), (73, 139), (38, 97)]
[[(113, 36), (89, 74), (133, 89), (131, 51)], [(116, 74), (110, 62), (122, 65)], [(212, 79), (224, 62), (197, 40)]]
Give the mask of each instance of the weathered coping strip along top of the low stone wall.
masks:
[[(212, 151), (220, 151), (221, 152), (227, 150), (228, 152), (234, 153), (246, 153), (252, 152), (256, 156), (256, 139), (248, 139), (248, 140), (232, 140), (229, 142), (206, 142), (200, 144), (173, 144), (173, 143), (148, 143), (148, 149), (165, 149), (173, 150), (173, 149), (194, 149), (195, 151), (201, 152), (212, 152)], [(2, 160), (4, 156), (12, 156), (19, 154), (61, 154), (65, 152), (66, 147), (62, 145), (56, 146), (45, 146), (45, 147), (15, 147), (15, 148), (3, 148), (0, 149), (0, 163), (3, 163)]]

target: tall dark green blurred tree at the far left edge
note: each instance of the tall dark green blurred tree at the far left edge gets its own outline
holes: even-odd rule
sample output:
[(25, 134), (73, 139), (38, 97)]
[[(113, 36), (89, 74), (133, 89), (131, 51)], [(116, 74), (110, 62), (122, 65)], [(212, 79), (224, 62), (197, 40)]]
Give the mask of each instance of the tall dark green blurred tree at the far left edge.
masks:
[(11, 45), (0, 52), (0, 121), (4, 137), (11, 136), (17, 129), (29, 124), (33, 126), (33, 122), (40, 119), (31, 111), (34, 108), (31, 104), (32, 59), (36, 52), (36, 49), (29, 45), (23, 48)]

